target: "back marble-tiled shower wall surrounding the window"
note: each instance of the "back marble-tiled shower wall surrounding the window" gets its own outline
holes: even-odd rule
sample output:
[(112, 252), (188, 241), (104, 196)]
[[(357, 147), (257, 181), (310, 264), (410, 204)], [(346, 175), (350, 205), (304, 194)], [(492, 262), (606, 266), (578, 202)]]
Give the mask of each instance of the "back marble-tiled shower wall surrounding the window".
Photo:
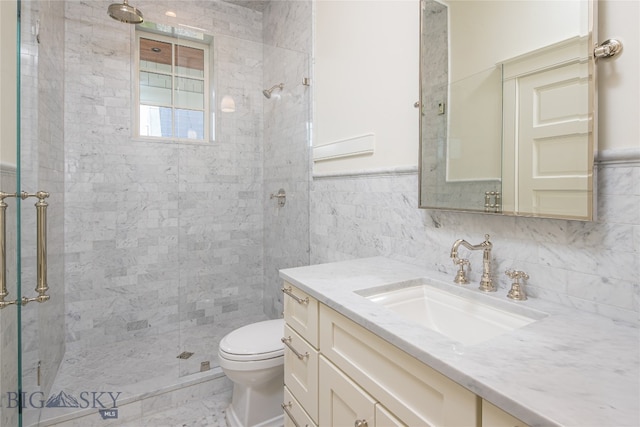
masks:
[[(262, 311), (262, 14), (140, 0), (145, 19), (214, 36), (211, 143), (132, 138), (134, 27), (67, 2), (67, 346), (88, 348)], [(173, 10), (177, 18), (164, 15)], [(176, 344), (179, 346), (179, 343)], [(214, 345), (214, 344), (212, 344)]]

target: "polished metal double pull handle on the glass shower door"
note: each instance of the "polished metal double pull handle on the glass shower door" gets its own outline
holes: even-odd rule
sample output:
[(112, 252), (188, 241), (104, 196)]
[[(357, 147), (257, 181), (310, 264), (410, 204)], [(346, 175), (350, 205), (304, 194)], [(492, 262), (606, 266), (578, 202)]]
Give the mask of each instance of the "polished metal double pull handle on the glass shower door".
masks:
[[(37, 281), (36, 292), (37, 296), (32, 298), (22, 297), (12, 301), (5, 301), (5, 298), (9, 295), (7, 291), (7, 240), (6, 240), (6, 212), (7, 203), (4, 199), (9, 197), (16, 197), (25, 200), (29, 197), (35, 197), (38, 199), (36, 202), (36, 259), (37, 259)], [(38, 191), (34, 194), (26, 192), (21, 193), (4, 193), (0, 192), (0, 309), (5, 308), (13, 304), (26, 305), (30, 302), (45, 302), (49, 300), (47, 291), (49, 286), (47, 285), (47, 206), (49, 204), (45, 201), (49, 197), (49, 193), (45, 191)]]

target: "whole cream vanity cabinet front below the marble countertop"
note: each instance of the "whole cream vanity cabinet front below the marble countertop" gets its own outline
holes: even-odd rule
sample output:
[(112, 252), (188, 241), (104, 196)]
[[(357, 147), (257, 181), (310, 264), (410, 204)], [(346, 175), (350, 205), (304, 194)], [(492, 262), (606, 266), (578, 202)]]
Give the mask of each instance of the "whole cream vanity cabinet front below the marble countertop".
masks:
[(283, 289), (285, 426), (527, 427), (300, 289)]

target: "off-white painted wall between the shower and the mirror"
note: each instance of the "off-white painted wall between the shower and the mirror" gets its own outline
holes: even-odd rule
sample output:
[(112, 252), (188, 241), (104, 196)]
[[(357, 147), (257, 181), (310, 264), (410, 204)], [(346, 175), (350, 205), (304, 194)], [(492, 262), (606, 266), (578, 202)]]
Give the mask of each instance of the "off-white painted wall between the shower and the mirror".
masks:
[(419, 2), (315, 2), (314, 147), (373, 133), (373, 154), (314, 173), (415, 166)]

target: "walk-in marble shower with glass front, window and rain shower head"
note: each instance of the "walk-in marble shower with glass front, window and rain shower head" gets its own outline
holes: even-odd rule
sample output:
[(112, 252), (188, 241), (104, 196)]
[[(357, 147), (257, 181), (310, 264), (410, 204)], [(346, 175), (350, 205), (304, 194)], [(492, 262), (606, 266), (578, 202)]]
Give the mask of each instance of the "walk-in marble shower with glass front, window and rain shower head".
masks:
[[(107, 18), (111, 3), (109, 15), (118, 21), (137, 22), (143, 11), (144, 28)], [(66, 0), (43, 8), (22, 0), (20, 15), (13, 12), (20, 35), (13, 56), (22, 68), (10, 87), (20, 87), (21, 109), (18, 123), (0, 120), (3, 129), (21, 131), (13, 155), (19, 164), (0, 162), (0, 191), (14, 193), (19, 181), (25, 191), (50, 193), (51, 298), (0, 310), (2, 427), (19, 419), (24, 427), (102, 425), (103, 416), (116, 416), (83, 407), (86, 396), (102, 395), (105, 405), (117, 397), (123, 423), (140, 407), (160, 411), (179, 406), (178, 398), (213, 399), (226, 381), (217, 358), (221, 338), (279, 317), (278, 269), (308, 264), (310, 91), (284, 83), (262, 94), (273, 94), (271, 101), (261, 96), (275, 82), (309, 75), (310, 49), (283, 47), (283, 38), (310, 40), (289, 34), (310, 25), (284, 21), (301, 4), (264, 6), (265, 22), (282, 20), (285, 31), (263, 41), (261, 12), (243, 6), (251, 2), (169, 2), (180, 7), (171, 19), (164, 2), (129, 3), (136, 7)], [(46, 23), (39, 40), (31, 31), (38, 22)], [(150, 28), (166, 22), (175, 36)], [(191, 37), (185, 26), (192, 24), (210, 38)], [(143, 57), (139, 40), (156, 36), (169, 55)], [(204, 43), (215, 55), (200, 55)], [(143, 78), (146, 100), (159, 105), (162, 118), (177, 117), (175, 129), (193, 121), (183, 110), (208, 104), (203, 117), (215, 126), (213, 136), (134, 135)], [(264, 108), (285, 84), (291, 102)], [(226, 94), (235, 110), (223, 113)], [(174, 101), (178, 114), (171, 116)], [(274, 210), (265, 199), (280, 187), (292, 198)], [(30, 297), (37, 283), (38, 221), (33, 200), (20, 200), (20, 215), (18, 200), (11, 202), (7, 292), (17, 299)], [(6, 405), (19, 390), (23, 410), (15, 399)]]

